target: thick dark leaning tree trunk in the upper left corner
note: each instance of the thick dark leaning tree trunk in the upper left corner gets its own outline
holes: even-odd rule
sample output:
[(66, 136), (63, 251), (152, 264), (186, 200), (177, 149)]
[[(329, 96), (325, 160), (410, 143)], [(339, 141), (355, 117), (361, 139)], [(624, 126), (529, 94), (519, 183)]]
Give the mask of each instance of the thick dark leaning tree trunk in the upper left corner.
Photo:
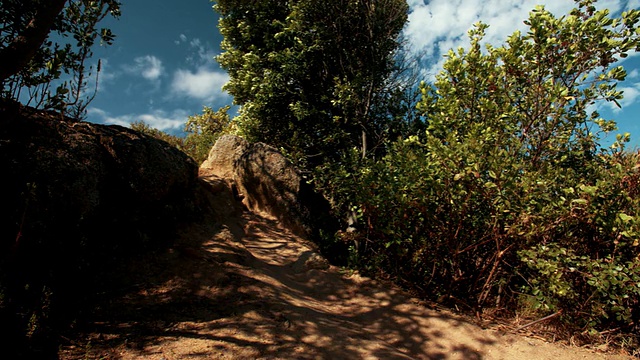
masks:
[(0, 51), (0, 83), (18, 73), (33, 58), (66, 3), (67, 0), (42, 1), (24, 32)]

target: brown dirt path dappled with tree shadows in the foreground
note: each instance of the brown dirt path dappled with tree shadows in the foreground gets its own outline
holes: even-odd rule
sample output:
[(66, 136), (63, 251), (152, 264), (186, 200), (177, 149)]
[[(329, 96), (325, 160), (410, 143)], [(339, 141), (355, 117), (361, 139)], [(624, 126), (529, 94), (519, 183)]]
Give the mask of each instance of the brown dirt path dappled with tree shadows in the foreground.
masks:
[(626, 359), (549, 344), (421, 306), (347, 275), (313, 245), (245, 212), (200, 225), (135, 270), (62, 359)]

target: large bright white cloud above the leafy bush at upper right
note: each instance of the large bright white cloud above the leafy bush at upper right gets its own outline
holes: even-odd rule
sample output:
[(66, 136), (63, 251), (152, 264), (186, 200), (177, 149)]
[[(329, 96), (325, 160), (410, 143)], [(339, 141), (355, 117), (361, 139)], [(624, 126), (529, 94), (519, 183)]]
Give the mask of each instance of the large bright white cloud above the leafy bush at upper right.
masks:
[[(575, 7), (573, 0), (409, 0), (409, 23), (404, 34), (412, 51), (426, 61), (429, 77), (442, 69), (443, 55), (449, 49), (468, 47), (467, 31), (482, 21), (489, 24), (484, 41), (498, 46), (516, 30), (525, 30), (523, 23), (536, 4), (544, 5), (560, 17)], [(599, 8), (612, 13), (623, 9), (624, 0), (601, 0)], [(628, 1), (625, 8), (637, 8), (640, 0)]]

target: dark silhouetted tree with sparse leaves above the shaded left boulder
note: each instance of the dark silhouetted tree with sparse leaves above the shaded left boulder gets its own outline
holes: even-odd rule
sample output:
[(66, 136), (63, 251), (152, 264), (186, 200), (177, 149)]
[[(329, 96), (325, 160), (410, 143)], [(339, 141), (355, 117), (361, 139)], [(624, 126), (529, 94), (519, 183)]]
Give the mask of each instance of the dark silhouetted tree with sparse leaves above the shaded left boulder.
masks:
[[(87, 79), (100, 62), (87, 66), (97, 40), (111, 44), (114, 36), (97, 24), (108, 14), (119, 16), (116, 0), (2, 0), (0, 71), (2, 97), (36, 107), (65, 110), (82, 118), (95, 96), (87, 95)], [(52, 36), (53, 35), (53, 36)], [(51, 40), (55, 38), (56, 41)], [(68, 42), (65, 39), (72, 38)], [(6, 66), (5, 66), (6, 65)], [(63, 75), (64, 74), (64, 75)], [(58, 79), (55, 90), (51, 87)]]

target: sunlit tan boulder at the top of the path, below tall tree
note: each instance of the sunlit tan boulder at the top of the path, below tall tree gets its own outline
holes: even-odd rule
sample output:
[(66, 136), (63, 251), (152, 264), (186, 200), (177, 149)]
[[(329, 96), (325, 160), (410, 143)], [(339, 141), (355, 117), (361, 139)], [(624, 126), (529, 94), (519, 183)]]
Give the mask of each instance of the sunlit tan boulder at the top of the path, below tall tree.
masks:
[(330, 227), (329, 204), (275, 148), (222, 136), (200, 166), (200, 176), (227, 179), (253, 211), (266, 212), (296, 234), (313, 237)]

